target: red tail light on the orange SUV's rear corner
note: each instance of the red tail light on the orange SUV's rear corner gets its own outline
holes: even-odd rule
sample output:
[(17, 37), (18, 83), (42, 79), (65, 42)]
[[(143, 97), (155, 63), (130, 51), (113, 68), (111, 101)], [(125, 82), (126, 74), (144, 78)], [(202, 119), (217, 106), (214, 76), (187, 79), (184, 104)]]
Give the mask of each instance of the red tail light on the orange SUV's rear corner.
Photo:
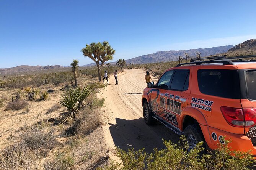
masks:
[(220, 107), (220, 110), (228, 122), (228, 124), (235, 127), (252, 127), (256, 122), (256, 109), (255, 108), (233, 108), (233, 107)]

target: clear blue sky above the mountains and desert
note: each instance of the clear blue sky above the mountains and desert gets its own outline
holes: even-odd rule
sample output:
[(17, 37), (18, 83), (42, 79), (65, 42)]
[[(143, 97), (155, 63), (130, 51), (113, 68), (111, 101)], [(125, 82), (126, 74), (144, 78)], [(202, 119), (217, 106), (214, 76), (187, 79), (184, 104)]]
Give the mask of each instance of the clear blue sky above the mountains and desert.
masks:
[(0, 0), (0, 68), (93, 63), (86, 44), (108, 41), (113, 61), (157, 51), (256, 39), (255, 0)]

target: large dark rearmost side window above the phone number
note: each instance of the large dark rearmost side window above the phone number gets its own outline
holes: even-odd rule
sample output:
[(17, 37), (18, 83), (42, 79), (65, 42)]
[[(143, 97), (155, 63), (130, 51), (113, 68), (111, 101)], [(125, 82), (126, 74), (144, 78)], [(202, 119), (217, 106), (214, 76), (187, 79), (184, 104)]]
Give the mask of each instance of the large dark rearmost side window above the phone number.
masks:
[(201, 93), (230, 99), (240, 99), (237, 70), (200, 69), (197, 71)]

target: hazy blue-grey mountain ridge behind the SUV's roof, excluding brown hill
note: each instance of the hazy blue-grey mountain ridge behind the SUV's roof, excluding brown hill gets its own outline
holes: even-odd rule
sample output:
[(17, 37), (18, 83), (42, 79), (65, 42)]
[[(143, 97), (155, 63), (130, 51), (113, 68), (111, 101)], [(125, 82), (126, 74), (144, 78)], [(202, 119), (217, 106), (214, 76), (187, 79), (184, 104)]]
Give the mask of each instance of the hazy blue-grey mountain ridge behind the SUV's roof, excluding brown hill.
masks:
[(188, 53), (190, 57), (196, 57), (196, 53), (201, 53), (201, 57), (215, 55), (220, 53), (227, 52), (230, 48), (234, 47), (233, 45), (226, 45), (220, 47), (212, 47), (212, 48), (198, 48), (198, 49), (190, 49), (190, 50), (179, 50), (179, 51), (158, 51), (153, 54), (143, 55), (139, 57), (135, 57), (132, 59), (126, 60), (126, 63), (133, 64), (142, 64), (142, 63), (155, 63), (157, 61), (173, 61), (176, 60), (179, 56), (185, 56), (185, 53)]

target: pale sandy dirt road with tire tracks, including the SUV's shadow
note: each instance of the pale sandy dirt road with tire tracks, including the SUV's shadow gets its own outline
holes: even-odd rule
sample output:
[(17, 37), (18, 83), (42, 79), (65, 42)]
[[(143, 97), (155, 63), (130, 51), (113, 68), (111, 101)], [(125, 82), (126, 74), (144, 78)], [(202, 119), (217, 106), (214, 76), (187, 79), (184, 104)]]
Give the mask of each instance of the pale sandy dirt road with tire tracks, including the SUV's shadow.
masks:
[[(150, 153), (153, 148), (164, 148), (162, 139), (178, 141), (179, 136), (161, 123), (154, 126), (144, 123), (141, 104), (143, 89), (147, 87), (144, 76), (145, 71), (140, 69), (125, 70), (118, 74), (118, 85), (111, 76), (109, 85), (100, 92), (100, 97), (106, 99), (104, 112), (111, 119), (104, 128), (106, 142), (112, 151), (118, 146), (126, 151), (131, 147), (135, 150), (145, 148)], [(157, 82), (156, 77), (152, 79)]]

